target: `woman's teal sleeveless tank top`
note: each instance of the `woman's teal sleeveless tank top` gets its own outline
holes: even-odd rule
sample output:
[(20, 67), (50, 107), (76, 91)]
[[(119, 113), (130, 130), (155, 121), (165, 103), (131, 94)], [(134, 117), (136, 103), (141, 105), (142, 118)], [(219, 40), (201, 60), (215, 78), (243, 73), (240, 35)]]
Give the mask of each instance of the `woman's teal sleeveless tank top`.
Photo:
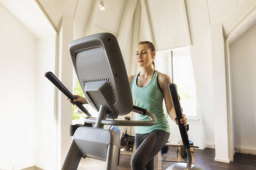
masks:
[[(149, 84), (145, 87), (137, 85), (138, 74), (132, 80), (132, 98), (133, 105), (147, 109), (156, 116), (156, 123), (151, 126), (135, 126), (135, 133), (150, 133), (153, 130), (163, 130), (170, 133), (170, 125), (167, 117), (164, 115), (163, 99), (164, 95), (157, 86), (158, 71), (155, 71)], [(135, 113), (137, 121), (148, 121), (150, 118), (138, 113)]]

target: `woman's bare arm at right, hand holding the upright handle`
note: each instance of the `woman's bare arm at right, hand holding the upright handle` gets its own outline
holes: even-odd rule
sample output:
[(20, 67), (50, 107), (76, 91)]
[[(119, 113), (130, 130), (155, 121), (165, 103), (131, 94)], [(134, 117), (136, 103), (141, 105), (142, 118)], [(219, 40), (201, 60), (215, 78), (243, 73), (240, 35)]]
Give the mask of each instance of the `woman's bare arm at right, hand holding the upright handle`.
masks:
[[(159, 86), (163, 90), (164, 101), (165, 101), (165, 106), (166, 106), (166, 109), (167, 109), (167, 113), (169, 114), (171, 119), (176, 124), (178, 124), (177, 116), (176, 116), (176, 113), (175, 113), (175, 109), (173, 107), (171, 93), (170, 93), (170, 90), (169, 90), (169, 87), (168, 87), (168, 85), (170, 83), (172, 83), (171, 78), (169, 77), (169, 75), (166, 75), (166, 74), (163, 74), (163, 73), (159, 73), (158, 74), (158, 82), (159, 82)], [(185, 124), (185, 125), (187, 125), (187, 118), (185, 116), (186, 116), (185, 114), (182, 115), (183, 118), (180, 119), (180, 122)]]

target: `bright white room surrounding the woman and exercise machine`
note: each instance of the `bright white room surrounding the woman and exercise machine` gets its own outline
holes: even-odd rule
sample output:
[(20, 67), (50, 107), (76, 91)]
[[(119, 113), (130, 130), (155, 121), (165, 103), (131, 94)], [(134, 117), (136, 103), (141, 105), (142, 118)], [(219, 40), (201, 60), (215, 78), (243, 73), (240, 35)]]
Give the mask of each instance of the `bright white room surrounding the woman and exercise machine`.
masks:
[[(180, 88), (188, 137), (197, 146), (193, 164), (256, 169), (255, 0), (0, 0), (0, 169), (61, 168), (70, 125), (86, 115), (44, 74), (81, 94), (68, 45), (102, 32), (117, 38), (128, 76), (139, 73), (137, 44), (155, 44), (156, 70)], [(118, 120), (125, 117), (134, 120), (135, 113)], [(169, 142), (178, 144), (179, 128), (167, 120)], [(134, 126), (125, 128), (135, 135)], [(119, 131), (121, 137), (124, 126)], [(164, 159), (178, 149), (161, 157), (161, 168), (156, 155), (154, 169), (174, 164)], [(118, 169), (131, 169), (134, 151), (120, 152)], [(103, 160), (82, 159), (77, 169), (105, 169)]]

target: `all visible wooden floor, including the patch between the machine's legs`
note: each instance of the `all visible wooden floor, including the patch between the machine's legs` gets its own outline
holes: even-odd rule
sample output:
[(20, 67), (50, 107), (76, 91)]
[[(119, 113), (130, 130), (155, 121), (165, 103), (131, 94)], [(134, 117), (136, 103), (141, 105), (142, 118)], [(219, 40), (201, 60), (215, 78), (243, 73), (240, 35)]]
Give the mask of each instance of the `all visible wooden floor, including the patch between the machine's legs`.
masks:
[[(163, 155), (163, 160), (165, 157), (175, 157), (176, 156), (176, 148), (170, 148), (167, 154)], [(221, 169), (239, 169), (239, 170), (255, 170), (256, 169), (256, 156), (246, 155), (246, 154), (235, 154), (234, 162), (229, 164), (220, 163), (214, 161), (215, 150), (206, 148), (204, 150), (195, 150), (195, 165), (201, 167), (204, 170), (221, 170)], [(120, 162), (118, 165), (119, 170), (130, 170), (131, 156), (128, 155), (120, 155)], [(163, 162), (163, 170), (167, 167), (175, 163)], [(85, 158), (81, 159), (81, 162), (77, 168), (77, 170), (97, 170), (97, 169), (105, 169), (106, 162), (98, 159)], [(37, 170), (40, 168), (30, 167), (26, 168), (27, 170)], [(154, 169), (157, 170), (157, 156), (154, 158)]]

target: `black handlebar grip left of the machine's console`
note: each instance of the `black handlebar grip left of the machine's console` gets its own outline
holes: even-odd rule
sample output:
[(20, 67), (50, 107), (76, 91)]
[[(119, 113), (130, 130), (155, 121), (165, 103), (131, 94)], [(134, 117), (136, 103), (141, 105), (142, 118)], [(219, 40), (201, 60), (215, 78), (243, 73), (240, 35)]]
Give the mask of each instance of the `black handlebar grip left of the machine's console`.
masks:
[[(66, 95), (70, 100), (74, 101), (75, 96), (62, 84), (62, 82), (52, 73), (46, 72), (44, 76), (49, 79), (64, 95)], [(81, 109), (87, 116), (92, 116), (87, 109), (83, 106), (81, 102), (74, 102), (74, 104)]]

